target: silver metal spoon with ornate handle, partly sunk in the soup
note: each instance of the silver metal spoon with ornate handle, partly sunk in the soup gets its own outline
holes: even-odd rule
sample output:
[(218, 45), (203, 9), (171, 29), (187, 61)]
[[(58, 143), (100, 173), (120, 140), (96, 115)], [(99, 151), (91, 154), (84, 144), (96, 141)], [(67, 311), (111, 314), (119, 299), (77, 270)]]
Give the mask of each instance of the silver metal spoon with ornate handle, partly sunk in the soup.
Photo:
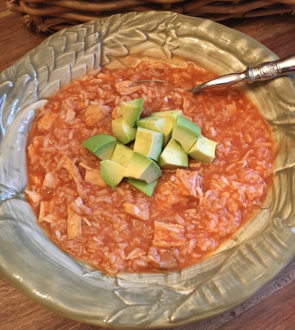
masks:
[[(258, 66), (247, 67), (244, 71), (239, 73), (230, 73), (218, 78), (207, 81), (204, 84), (201, 84), (197, 87), (189, 89), (188, 92), (193, 94), (200, 93), (206, 89), (218, 88), (235, 85), (239, 82), (247, 82), (252, 84), (254, 81), (268, 80), (281, 75), (286, 75), (295, 72), (295, 55), (287, 56), (283, 59), (264, 62)], [(165, 80), (139, 80), (135, 83), (142, 82), (165, 82)]]

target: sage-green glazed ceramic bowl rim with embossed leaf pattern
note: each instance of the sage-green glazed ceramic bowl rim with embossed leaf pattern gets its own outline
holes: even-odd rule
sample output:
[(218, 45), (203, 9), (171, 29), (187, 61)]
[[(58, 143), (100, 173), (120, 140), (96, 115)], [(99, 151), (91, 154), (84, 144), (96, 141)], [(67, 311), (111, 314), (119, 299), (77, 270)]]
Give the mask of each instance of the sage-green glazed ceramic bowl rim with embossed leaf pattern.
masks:
[(35, 110), (73, 79), (127, 54), (181, 57), (217, 73), (277, 57), (249, 36), (171, 12), (114, 15), (53, 34), (0, 74), (0, 271), (38, 303), (117, 329), (167, 328), (239, 304), (295, 253), (295, 88), (281, 77), (240, 88), (270, 123), (275, 177), (262, 209), (215, 253), (182, 271), (111, 277), (62, 252), (24, 198)]

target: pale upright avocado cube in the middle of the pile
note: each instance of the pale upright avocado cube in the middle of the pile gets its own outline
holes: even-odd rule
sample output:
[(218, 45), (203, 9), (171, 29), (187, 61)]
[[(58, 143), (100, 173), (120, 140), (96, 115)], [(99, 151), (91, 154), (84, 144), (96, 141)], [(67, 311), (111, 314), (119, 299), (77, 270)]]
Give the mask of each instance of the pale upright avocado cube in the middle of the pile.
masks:
[(136, 132), (133, 150), (157, 161), (162, 151), (163, 139), (163, 133), (139, 127)]

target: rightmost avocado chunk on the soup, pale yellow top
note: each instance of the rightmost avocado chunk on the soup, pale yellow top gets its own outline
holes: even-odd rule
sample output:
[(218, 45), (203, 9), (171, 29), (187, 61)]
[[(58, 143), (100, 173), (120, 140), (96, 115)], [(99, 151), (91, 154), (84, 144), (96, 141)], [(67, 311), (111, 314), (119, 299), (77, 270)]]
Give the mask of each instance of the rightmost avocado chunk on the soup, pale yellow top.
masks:
[(201, 135), (195, 144), (190, 148), (188, 154), (196, 161), (211, 163), (215, 158), (215, 148), (217, 142), (207, 139)]

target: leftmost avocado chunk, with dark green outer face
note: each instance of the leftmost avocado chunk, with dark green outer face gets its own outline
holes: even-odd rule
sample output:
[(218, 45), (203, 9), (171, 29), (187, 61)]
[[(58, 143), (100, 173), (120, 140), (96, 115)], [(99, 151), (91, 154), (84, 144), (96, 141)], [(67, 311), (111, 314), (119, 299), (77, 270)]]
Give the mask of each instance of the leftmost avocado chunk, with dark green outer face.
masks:
[(99, 134), (89, 137), (82, 144), (101, 160), (111, 159), (116, 139), (108, 134)]

